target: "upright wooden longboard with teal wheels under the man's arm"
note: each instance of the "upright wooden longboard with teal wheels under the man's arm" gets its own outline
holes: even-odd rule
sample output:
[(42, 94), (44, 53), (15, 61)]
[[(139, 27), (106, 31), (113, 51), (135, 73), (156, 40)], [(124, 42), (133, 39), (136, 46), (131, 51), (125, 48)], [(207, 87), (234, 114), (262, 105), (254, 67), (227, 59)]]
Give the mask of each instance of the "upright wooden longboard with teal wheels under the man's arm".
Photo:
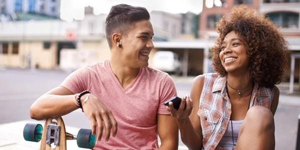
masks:
[(81, 128), (77, 136), (65, 132), (65, 126), (60, 116), (47, 118), (44, 127), (38, 123), (26, 123), (23, 137), (28, 141), (38, 142), (41, 140), (40, 149), (42, 150), (66, 150), (66, 139), (76, 139), (78, 147), (91, 149), (96, 141), (96, 137), (91, 134), (90, 129)]

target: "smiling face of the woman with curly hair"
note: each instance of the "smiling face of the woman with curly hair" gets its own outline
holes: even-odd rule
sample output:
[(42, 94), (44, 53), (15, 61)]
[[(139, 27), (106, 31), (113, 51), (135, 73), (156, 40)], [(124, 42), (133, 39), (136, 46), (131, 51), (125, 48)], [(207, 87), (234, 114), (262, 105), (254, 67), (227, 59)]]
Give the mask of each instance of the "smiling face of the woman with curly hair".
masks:
[(250, 58), (244, 43), (235, 31), (230, 31), (224, 38), (219, 53), (222, 66), (228, 73), (249, 72)]

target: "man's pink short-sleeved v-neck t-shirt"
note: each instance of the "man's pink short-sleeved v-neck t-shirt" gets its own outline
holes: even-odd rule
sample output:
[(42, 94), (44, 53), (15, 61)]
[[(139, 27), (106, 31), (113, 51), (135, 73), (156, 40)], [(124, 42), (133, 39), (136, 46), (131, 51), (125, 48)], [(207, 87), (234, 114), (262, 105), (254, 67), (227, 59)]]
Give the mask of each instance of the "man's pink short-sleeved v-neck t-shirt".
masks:
[(156, 149), (157, 114), (169, 114), (163, 102), (176, 95), (171, 77), (162, 71), (140, 68), (134, 82), (124, 89), (109, 61), (78, 69), (61, 83), (73, 93), (89, 90), (112, 112), (116, 137), (96, 143), (94, 149)]

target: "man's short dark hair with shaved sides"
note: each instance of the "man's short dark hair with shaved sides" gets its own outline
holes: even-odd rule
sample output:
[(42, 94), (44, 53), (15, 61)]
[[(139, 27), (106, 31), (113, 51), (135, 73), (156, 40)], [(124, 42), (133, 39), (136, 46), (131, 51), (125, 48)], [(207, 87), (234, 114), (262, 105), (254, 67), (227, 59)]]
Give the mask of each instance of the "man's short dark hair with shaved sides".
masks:
[(117, 4), (111, 7), (105, 21), (106, 39), (111, 48), (111, 36), (115, 32), (126, 35), (134, 27), (133, 23), (140, 20), (149, 20), (150, 15), (146, 8)]

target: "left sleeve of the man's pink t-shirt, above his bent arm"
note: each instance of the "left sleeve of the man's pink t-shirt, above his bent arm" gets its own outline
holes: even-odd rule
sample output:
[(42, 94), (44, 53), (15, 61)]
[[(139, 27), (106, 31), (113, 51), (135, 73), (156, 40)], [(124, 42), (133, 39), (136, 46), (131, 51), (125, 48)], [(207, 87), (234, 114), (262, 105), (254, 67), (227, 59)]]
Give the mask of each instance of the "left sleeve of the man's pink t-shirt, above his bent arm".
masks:
[(69, 89), (72, 93), (79, 93), (88, 90), (89, 71), (87, 67), (80, 68), (69, 74), (60, 86)]

